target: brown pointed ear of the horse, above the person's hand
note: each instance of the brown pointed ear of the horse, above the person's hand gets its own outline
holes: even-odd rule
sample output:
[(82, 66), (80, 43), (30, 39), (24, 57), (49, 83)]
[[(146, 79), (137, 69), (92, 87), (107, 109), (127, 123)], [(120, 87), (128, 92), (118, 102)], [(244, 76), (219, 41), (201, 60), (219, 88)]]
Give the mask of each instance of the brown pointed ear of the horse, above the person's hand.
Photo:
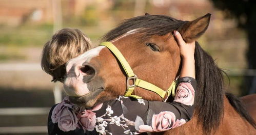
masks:
[(185, 23), (182, 28), (178, 30), (181, 33), (184, 41), (192, 42), (203, 35), (208, 28), (210, 17), (211, 14), (208, 13), (202, 17), (199, 17), (198, 19)]

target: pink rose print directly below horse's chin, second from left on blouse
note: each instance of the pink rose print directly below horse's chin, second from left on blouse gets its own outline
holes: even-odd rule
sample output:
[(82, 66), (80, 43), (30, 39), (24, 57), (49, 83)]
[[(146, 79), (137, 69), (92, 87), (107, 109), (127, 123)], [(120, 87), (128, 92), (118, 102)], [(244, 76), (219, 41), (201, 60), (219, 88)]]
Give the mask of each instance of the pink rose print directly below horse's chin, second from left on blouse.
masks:
[[(77, 115), (78, 124), (85, 130), (92, 131), (96, 124), (96, 115), (92, 111), (100, 110), (102, 103), (93, 107), (92, 110), (85, 110)], [(79, 126), (78, 126), (79, 127)]]

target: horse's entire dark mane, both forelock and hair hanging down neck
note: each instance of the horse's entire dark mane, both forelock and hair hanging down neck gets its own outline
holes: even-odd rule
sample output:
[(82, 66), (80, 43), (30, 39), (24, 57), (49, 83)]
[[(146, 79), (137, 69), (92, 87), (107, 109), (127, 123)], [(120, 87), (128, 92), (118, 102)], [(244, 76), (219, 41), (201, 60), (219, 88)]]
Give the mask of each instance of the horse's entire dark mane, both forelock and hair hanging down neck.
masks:
[[(145, 33), (142, 38), (150, 38), (152, 35), (163, 36), (178, 30), (186, 22), (165, 15), (138, 16), (125, 20), (108, 32), (103, 40), (111, 41), (139, 28), (143, 28), (140, 32)], [(198, 42), (196, 42), (194, 56), (196, 81), (198, 82), (195, 115), (198, 116), (198, 123), (202, 123), (204, 131), (209, 133), (219, 127), (223, 117), (223, 71), (216, 66), (212, 57), (201, 48)]]

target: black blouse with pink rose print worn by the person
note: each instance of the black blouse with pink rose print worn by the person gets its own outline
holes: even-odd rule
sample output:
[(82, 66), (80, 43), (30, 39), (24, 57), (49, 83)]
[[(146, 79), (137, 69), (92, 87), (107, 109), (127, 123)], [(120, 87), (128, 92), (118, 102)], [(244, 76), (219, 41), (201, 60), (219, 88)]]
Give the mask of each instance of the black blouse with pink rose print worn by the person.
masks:
[(176, 88), (173, 102), (120, 96), (83, 111), (64, 98), (49, 113), (48, 133), (139, 134), (178, 127), (192, 118), (196, 81), (181, 77)]

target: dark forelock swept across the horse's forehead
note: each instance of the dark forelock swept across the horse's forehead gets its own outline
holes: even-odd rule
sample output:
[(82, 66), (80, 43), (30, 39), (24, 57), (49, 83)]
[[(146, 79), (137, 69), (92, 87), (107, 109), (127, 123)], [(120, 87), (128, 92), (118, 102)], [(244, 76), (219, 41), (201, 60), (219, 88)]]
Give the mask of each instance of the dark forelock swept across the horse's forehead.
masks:
[(150, 38), (152, 35), (166, 35), (173, 30), (178, 30), (186, 21), (177, 20), (165, 15), (144, 15), (125, 20), (119, 26), (103, 36), (104, 41), (111, 41), (123, 34), (139, 28), (142, 38)]

